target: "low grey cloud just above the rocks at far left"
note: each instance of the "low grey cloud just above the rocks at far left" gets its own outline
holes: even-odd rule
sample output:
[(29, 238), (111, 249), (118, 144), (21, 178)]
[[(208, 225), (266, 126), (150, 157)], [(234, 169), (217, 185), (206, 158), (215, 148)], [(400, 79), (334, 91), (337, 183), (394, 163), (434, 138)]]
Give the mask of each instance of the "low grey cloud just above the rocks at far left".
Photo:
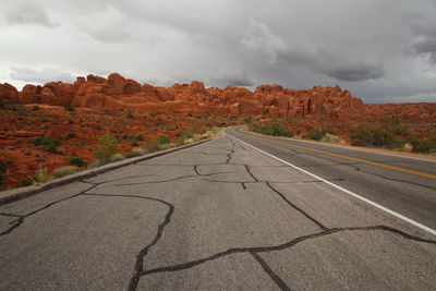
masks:
[(13, 66), (10, 77), (16, 81), (24, 81), (37, 84), (46, 84), (48, 82), (73, 82), (74, 77), (72, 74), (59, 71), (52, 68), (43, 68), (40, 70), (24, 68), (24, 66)]

